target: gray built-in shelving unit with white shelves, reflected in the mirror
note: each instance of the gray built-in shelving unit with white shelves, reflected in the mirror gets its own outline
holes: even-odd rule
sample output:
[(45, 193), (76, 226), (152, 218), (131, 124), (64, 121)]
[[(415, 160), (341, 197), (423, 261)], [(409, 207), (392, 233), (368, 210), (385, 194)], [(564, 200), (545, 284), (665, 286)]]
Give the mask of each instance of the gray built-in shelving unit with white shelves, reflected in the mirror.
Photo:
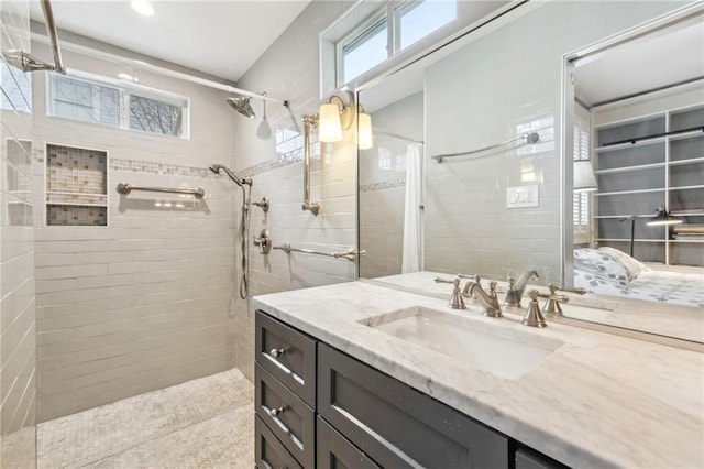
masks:
[(636, 259), (704, 266), (704, 239), (646, 226), (660, 206), (704, 225), (704, 103), (596, 123), (595, 142), (597, 243), (629, 252), (630, 221), (622, 220), (635, 215)]

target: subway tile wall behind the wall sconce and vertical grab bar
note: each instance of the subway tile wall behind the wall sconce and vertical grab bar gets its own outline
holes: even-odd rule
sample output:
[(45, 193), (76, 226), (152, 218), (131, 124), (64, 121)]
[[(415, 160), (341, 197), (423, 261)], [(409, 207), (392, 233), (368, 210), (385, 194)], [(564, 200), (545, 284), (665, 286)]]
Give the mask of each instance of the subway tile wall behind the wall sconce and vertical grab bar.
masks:
[[(290, 100), (296, 120), (317, 112), (319, 96), (318, 33), (331, 24), (351, 1), (311, 2), (294, 23), (244, 75), (239, 85), (266, 90), (270, 96)], [(261, 111), (255, 102), (255, 111)], [(285, 109), (266, 107), (274, 130), (294, 130)], [(258, 120), (238, 120), (239, 171), (261, 167), (276, 155), (276, 139), (256, 137)], [(311, 199), (321, 204), (320, 215), (302, 211), (302, 165), (293, 164), (254, 175), (252, 199), (267, 196), (272, 208), (265, 216), (253, 208), (252, 236), (267, 228), (274, 246), (290, 242), (295, 247), (333, 252), (356, 246), (356, 166), (352, 131), (343, 142), (321, 145), (321, 160), (312, 161)], [(318, 255), (274, 250), (263, 257), (251, 253), (252, 296), (286, 290), (354, 280), (354, 263)], [(238, 368), (250, 379), (254, 375), (254, 309), (251, 301), (238, 299)]]

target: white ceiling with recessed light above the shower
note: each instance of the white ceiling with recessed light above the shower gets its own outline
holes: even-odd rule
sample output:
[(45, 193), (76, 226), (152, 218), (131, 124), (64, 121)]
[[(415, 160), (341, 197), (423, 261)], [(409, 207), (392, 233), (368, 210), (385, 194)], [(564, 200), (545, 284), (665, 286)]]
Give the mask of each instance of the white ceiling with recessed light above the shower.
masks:
[[(161, 0), (144, 17), (128, 0), (53, 0), (56, 28), (237, 81), (310, 0)], [(38, 0), (30, 15), (44, 22)]]

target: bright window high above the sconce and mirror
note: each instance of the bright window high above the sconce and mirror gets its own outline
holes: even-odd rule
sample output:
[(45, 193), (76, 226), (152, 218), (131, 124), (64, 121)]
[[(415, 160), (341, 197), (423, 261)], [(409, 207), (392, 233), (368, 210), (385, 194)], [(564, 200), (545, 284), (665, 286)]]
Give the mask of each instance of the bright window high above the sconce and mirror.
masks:
[[(455, 0), (387, 0), (376, 11), (361, 11), (378, 4), (362, 2), (360, 8), (342, 20), (342, 25), (334, 25), (323, 34), (323, 41), (334, 43), (338, 86), (374, 68), (458, 18)], [(359, 18), (364, 20), (349, 25), (350, 21)], [(346, 32), (340, 34), (341, 29)]]

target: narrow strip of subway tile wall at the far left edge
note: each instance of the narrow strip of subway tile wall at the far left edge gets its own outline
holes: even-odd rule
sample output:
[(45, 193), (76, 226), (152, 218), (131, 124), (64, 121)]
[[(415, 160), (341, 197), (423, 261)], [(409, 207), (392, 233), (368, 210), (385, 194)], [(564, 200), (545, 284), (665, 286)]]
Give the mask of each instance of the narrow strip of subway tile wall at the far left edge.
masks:
[[(29, 3), (0, 3), (0, 50), (30, 48)], [(0, 63), (0, 465), (36, 466), (36, 309), (29, 74)]]

